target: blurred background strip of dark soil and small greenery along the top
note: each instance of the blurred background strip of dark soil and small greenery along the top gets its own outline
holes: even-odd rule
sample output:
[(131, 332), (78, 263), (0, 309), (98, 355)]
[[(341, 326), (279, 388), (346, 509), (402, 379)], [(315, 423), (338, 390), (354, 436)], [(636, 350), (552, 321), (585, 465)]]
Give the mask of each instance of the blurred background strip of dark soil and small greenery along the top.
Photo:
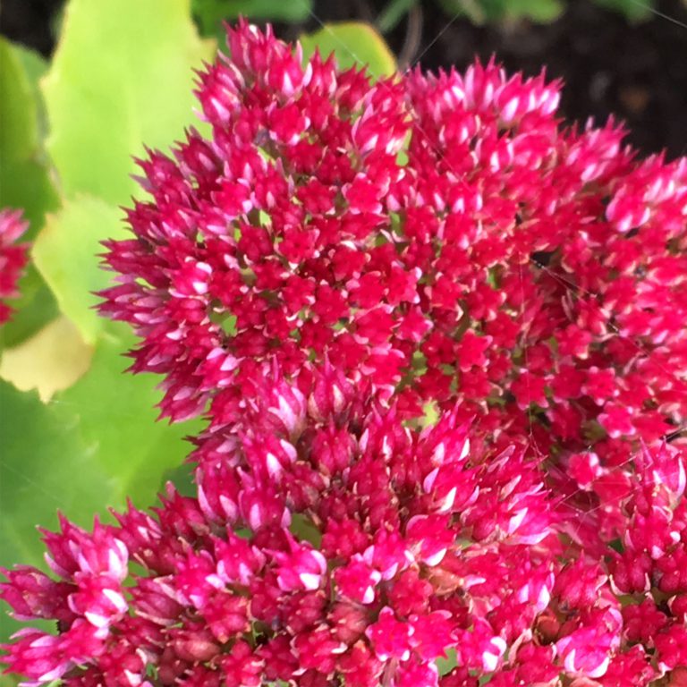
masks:
[[(63, 0), (2, 0), (5, 37), (49, 56)], [(625, 120), (643, 152), (687, 154), (685, 0), (193, 0), (202, 34), (239, 14), (282, 38), (327, 21), (368, 21), (401, 66), (459, 69), (496, 54), (510, 71), (563, 77), (564, 114)]]

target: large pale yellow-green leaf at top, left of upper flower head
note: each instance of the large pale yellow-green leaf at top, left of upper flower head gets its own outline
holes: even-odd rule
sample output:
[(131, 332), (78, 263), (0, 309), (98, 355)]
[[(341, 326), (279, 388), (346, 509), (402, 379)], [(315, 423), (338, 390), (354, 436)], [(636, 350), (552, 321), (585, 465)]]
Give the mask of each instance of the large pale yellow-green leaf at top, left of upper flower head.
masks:
[(190, 0), (71, 0), (43, 81), (64, 194), (128, 202), (131, 156), (144, 144), (167, 148), (193, 123), (191, 68), (213, 50), (193, 27)]

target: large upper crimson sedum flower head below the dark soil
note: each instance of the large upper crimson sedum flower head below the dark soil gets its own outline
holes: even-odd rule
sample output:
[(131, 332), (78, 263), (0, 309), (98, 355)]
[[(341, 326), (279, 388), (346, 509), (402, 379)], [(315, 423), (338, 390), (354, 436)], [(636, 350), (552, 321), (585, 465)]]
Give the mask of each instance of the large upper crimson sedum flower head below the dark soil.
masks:
[(459, 403), (547, 459), (584, 547), (619, 531), (600, 499), (687, 421), (685, 161), (564, 128), (543, 75), (371, 82), (269, 29), (228, 42), (199, 74), (210, 137), (140, 161), (148, 198), (107, 244), (101, 310), (162, 414), (231, 431), (273, 365), (307, 384), (328, 360), (403, 418)]

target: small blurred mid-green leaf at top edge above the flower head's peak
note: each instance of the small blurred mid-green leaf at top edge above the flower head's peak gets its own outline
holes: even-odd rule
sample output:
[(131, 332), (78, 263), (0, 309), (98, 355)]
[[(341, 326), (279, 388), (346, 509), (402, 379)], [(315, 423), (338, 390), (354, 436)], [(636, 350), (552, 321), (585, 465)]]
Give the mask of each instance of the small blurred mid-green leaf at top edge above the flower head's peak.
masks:
[(191, 9), (203, 36), (219, 33), (224, 38), (222, 22), (241, 16), (250, 20), (306, 21), (312, 12), (312, 0), (192, 0)]

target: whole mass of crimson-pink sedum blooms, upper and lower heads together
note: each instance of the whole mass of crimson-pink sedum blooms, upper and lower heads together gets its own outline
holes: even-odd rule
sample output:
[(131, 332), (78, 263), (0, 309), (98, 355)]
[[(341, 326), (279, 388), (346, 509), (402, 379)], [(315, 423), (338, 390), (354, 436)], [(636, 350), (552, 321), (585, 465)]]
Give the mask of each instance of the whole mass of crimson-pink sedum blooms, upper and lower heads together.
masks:
[[(6, 572), (30, 683), (687, 679), (687, 162), (559, 86), (370, 81), (240, 24), (101, 310), (201, 413), (169, 488)], [(661, 682), (662, 681), (662, 682)]]

